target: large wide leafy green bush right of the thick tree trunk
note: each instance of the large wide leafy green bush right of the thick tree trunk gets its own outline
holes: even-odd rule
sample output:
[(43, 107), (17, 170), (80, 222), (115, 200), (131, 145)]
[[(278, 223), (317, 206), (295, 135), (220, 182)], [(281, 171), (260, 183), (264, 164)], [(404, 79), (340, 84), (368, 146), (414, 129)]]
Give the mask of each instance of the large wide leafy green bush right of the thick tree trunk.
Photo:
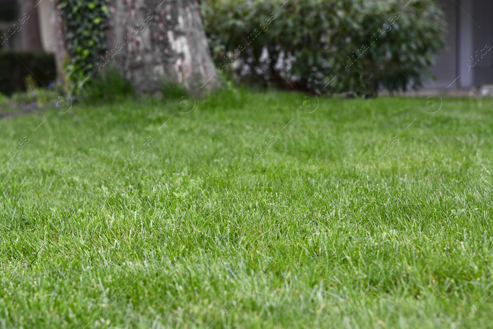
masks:
[(379, 87), (420, 85), (444, 47), (434, 1), (284, 1), (202, 3), (221, 71), (256, 84), (374, 96)]

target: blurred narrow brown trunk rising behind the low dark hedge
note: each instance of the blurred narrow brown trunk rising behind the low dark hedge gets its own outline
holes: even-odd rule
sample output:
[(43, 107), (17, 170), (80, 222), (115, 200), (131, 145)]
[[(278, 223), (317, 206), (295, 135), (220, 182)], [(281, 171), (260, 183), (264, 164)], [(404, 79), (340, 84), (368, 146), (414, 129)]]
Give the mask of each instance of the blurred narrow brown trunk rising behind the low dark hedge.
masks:
[(37, 10), (35, 8), (35, 0), (22, 0), (19, 2), (19, 10), (21, 15), (27, 13), (29, 18), (23, 26), (23, 35), (21, 39), (22, 50), (43, 50), (41, 37), (39, 35), (39, 21), (37, 18)]

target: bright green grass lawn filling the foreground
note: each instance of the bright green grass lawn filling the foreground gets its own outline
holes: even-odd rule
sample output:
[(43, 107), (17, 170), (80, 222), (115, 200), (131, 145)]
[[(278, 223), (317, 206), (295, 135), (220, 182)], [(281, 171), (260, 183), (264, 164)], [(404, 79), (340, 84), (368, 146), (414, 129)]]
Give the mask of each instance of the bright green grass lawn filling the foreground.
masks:
[(0, 328), (493, 328), (493, 100), (307, 100), (1, 120)]

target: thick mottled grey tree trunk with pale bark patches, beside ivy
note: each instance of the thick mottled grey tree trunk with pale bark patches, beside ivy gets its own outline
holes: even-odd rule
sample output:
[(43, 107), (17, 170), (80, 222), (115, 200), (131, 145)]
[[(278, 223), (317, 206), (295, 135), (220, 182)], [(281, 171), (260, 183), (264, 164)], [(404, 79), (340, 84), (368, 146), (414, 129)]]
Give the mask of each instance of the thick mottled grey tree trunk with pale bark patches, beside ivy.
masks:
[(192, 92), (216, 86), (197, 0), (112, 0), (109, 12), (105, 61), (139, 90), (171, 83)]

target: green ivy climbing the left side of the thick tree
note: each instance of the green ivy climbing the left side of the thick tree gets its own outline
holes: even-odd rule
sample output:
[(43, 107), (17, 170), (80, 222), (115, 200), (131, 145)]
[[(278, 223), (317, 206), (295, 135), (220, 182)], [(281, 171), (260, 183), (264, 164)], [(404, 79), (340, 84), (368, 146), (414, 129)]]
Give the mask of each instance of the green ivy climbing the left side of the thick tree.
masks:
[(66, 42), (70, 59), (66, 63), (67, 79), (78, 85), (94, 73), (96, 62), (106, 50), (105, 30), (109, 27), (108, 0), (60, 0), (58, 8), (66, 25)]

